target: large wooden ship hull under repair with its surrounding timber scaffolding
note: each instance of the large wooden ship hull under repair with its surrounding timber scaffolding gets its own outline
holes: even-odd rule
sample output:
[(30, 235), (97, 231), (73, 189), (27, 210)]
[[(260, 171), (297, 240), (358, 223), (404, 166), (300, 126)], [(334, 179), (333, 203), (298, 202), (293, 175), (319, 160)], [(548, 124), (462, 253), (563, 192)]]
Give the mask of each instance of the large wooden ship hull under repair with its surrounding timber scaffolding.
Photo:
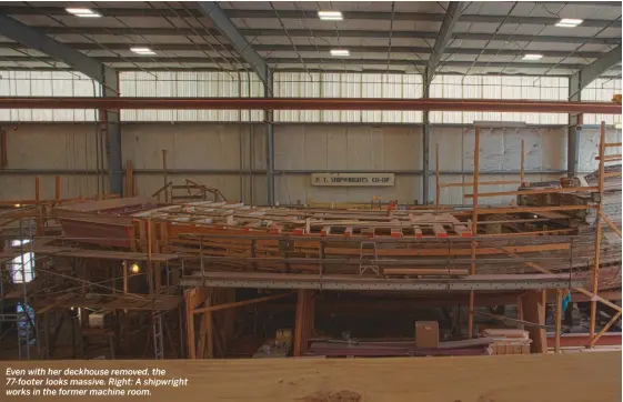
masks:
[[(438, 167), (435, 204), (405, 210), (393, 204), (360, 210), (208, 201), (194, 182), (187, 182), (187, 190), (199, 189), (203, 199), (171, 204), (175, 199), (167, 191), (174, 185), (167, 179), (164, 203), (111, 195), (63, 200), (58, 178), (54, 200), (41, 200), (37, 179), (34, 200), (2, 202), (8, 207), (0, 217), (3, 239), (14, 239), (16, 228), (18, 238), (28, 239), (0, 253), (2, 321), (18, 326), (22, 359), (31, 354), (32, 338), (39, 358), (52, 356), (63, 310), (77, 311), (82, 349), (87, 339), (102, 338), (114, 358), (115, 350), (138, 346), (121, 344), (122, 338), (142, 333), (148, 340), (139, 342), (143, 355), (151, 345), (157, 359), (211, 358), (224, 355), (237, 308), (295, 295), (293, 354), (304, 355), (319, 292), (410, 292), (431, 306), (448, 300), (468, 305), (468, 338), (475, 335), (474, 315), (483, 314), (476, 306), (518, 304), (514, 322), (527, 326), (536, 351), (547, 345), (543, 308), (552, 302), (557, 351), (562, 299), (571, 292), (574, 301), (591, 303), (586, 345), (594, 346), (622, 311), (611, 301), (620, 300), (612, 295), (621, 288), (621, 222), (603, 209), (606, 178), (621, 177), (620, 168), (605, 167), (621, 155), (606, 150), (621, 143), (605, 142), (602, 123), (594, 185), (535, 189), (523, 188), (522, 143), (521, 180), (503, 183), (522, 188), (505, 192), (479, 191), (501, 182), (479, 180), (479, 127), (474, 147), (471, 182), (441, 183)], [(466, 195), (471, 209), (440, 204), (440, 189), (453, 185), (472, 187)], [(501, 195), (516, 195), (520, 202), (479, 204), (480, 198)], [(620, 188), (617, 197), (620, 202)], [(586, 223), (587, 217), (594, 217), (593, 223)], [(17, 283), (9, 277), (19, 270), (11, 271), (9, 261), (26, 251), (36, 255), (38, 275)], [(20, 270), (26, 278), (23, 261)], [(270, 294), (239, 300), (237, 289)], [(21, 310), (7, 312), (11, 303)], [(597, 303), (614, 312), (599, 331)], [(113, 330), (90, 325), (107, 313), (115, 318)], [(20, 325), (32, 331), (20, 331)]]

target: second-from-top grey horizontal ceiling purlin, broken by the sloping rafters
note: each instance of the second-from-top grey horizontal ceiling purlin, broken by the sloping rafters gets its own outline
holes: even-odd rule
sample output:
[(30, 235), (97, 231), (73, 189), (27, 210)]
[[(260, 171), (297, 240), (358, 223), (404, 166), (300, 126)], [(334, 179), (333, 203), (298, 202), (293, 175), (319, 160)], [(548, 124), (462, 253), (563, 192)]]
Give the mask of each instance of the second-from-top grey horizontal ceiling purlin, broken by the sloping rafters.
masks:
[[(221, 36), (217, 29), (190, 29), (190, 28), (101, 28), (93, 27), (32, 27), (47, 34), (113, 34), (113, 36), (197, 36), (197, 32), (207, 32)], [(283, 37), (281, 29), (241, 29), (239, 32), (245, 37)], [(318, 38), (389, 38), (385, 30), (314, 30)], [(294, 38), (309, 38), (309, 29), (288, 30), (288, 34)], [(408, 39), (435, 39), (435, 31), (392, 31), (392, 38)], [(491, 33), (468, 33), (455, 32), (452, 39), (464, 40), (490, 40)], [(596, 44), (621, 44), (621, 37), (591, 38), (591, 37), (557, 37), (557, 36), (534, 36), (534, 34), (504, 34), (495, 36), (494, 41), (516, 41), (516, 42), (552, 42), (552, 43), (596, 43)]]

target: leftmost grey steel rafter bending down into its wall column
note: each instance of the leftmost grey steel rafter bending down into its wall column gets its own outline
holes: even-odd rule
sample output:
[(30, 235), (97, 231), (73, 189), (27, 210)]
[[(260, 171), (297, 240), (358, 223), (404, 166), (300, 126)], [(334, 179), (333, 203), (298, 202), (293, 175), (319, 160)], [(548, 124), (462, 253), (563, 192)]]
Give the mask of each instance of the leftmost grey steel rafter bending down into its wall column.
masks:
[[(102, 94), (107, 98), (119, 97), (119, 77), (114, 69), (104, 66), (101, 61), (87, 57), (78, 50), (38, 32), (37, 30), (8, 17), (0, 14), (0, 34), (38, 50), (68, 64), (72, 70), (79, 71), (102, 86)], [(32, 60), (32, 59), (31, 59)], [(66, 108), (67, 109), (67, 108)], [(77, 107), (77, 109), (84, 109)], [(100, 108), (93, 108), (100, 109)], [(100, 121), (107, 128), (107, 154), (110, 169), (110, 191), (122, 194), (123, 175), (118, 172), (122, 169), (121, 162), (121, 134), (119, 128), (119, 112), (115, 110), (100, 111)]]

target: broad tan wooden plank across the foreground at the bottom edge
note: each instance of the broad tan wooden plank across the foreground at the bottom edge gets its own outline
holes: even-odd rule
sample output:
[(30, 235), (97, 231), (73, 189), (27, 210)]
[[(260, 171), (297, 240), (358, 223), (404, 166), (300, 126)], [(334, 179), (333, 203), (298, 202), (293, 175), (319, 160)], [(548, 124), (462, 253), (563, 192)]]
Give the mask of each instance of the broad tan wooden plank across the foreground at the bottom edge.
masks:
[[(150, 388), (149, 400), (153, 402), (621, 401), (619, 352), (343, 360), (16, 361), (0, 362), (0, 370), (6, 371), (9, 365), (63, 370), (159, 368), (167, 371), (163, 379), (188, 379), (187, 386)], [(53, 402), (76, 398), (28, 400)], [(118, 402), (135, 400), (137, 396), (114, 398)]]

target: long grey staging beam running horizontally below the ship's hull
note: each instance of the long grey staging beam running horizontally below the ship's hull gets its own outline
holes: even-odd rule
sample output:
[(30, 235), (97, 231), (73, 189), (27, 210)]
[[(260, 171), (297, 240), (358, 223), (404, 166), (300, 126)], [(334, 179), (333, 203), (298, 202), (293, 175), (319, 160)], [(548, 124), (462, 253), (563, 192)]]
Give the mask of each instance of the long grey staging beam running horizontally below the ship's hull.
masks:
[(195, 272), (180, 280), (183, 287), (314, 289), (365, 291), (471, 291), (569, 289), (581, 287), (584, 280), (569, 274), (501, 274), (471, 275), (462, 279), (385, 279), (346, 275), (274, 274), (257, 272)]

